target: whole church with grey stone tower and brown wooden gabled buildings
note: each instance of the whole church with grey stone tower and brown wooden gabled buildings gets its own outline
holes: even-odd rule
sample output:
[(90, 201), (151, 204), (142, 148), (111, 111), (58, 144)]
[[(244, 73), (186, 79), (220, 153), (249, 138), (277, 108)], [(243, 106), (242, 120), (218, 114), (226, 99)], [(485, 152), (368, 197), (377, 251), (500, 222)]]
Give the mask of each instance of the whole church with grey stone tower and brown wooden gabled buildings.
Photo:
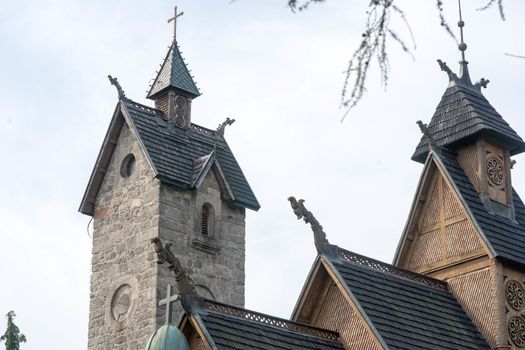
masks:
[(94, 228), (88, 349), (525, 348), (525, 206), (511, 160), (525, 142), (459, 49), (458, 73), (438, 60), (448, 86), (418, 122), (423, 168), (392, 264), (331, 244), (289, 198), (318, 253), (290, 319), (244, 308), (245, 213), (260, 205), (225, 138), (234, 120), (194, 122), (200, 91), (176, 35), (154, 107), (109, 76), (118, 103), (79, 209)]

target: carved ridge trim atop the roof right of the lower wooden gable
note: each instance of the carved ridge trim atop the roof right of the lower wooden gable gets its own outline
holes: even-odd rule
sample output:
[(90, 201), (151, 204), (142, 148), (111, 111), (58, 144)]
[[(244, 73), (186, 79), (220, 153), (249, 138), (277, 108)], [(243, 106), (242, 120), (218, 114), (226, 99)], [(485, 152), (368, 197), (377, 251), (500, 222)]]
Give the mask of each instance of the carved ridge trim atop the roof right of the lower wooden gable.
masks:
[(348, 263), (358, 264), (369, 269), (386, 273), (391, 276), (401, 277), (428, 287), (441, 289), (448, 292), (448, 283), (436, 278), (425, 276), (417, 272), (413, 272), (407, 269), (404, 269), (399, 266), (391, 265), (380, 260), (369, 258), (364, 255), (360, 255), (349, 250), (337, 247), (337, 255), (335, 256), (339, 260), (343, 260)]

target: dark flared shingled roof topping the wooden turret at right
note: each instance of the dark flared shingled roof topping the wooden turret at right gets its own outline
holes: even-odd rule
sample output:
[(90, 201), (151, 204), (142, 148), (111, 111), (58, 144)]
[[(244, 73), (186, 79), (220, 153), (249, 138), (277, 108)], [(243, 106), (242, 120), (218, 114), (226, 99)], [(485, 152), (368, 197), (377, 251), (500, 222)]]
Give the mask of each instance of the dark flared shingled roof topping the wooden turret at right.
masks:
[[(511, 155), (525, 151), (525, 142), (483, 96), (480, 83), (470, 82), (466, 62), (462, 69), (464, 73), (459, 78), (448, 72), (449, 86), (428, 124), (436, 145), (455, 149), (477, 135), (484, 135), (503, 143)], [(424, 163), (428, 153), (428, 142), (422, 137), (412, 159)]]

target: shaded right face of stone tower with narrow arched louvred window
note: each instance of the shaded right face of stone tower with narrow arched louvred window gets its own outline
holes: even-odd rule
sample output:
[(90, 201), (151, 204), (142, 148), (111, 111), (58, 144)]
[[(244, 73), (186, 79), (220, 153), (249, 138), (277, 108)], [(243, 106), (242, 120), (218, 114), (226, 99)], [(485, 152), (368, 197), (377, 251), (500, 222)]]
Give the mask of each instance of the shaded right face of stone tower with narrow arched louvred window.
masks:
[[(213, 228), (201, 233), (203, 205), (213, 208)], [(245, 211), (221, 199), (215, 175), (210, 172), (194, 192), (162, 184), (160, 227), (162, 240), (171, 241), (173, 253), (195, 282), (200, 295), (219, 302), (244, 306)], [(168, 283), (175, 287), (172, 273), (161, 269), (157, 299), (165, 297)], [(174, 320), (180, 317), (176, 309)], [(159, 309), (159, 322), (164, 310)]]

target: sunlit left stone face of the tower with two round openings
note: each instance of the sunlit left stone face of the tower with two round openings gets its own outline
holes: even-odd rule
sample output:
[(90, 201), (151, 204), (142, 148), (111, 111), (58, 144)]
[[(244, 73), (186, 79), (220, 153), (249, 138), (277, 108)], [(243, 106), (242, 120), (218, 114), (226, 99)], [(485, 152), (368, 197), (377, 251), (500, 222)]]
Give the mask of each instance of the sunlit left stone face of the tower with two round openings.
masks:
[[(130, 153), (135, 165), (123, 177)], [(159, 192), (125, 124), (95, 204), (88, 349), (142, 349), (155, 330), (158, 267), (149, 240), (158, 233)]]

